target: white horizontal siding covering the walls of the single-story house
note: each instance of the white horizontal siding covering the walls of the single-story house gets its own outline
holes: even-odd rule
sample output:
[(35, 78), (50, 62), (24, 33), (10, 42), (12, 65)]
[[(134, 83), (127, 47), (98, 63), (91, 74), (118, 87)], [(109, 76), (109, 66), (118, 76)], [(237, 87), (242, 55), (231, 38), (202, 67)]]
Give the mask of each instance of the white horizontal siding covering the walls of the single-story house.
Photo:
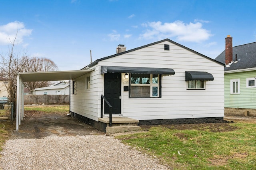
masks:
[[(164, 44), (170, 50), (164, 50)], [(100, 95), (104, 94), (104, 75), (100, 66), (172, 68), (175, 75), (162, 76), (161, 98), (129, 98), (121, 81), (121, 115), (137, 120), (224, 117), (224, 65), (206, 59), (170, 42), (162, 42), (136, 51), (99, 61), (91, 73), (89, 92), (85, 76), (77, 79), (77, 95), (71, 96), (71, 111), (89, 118), (100, 117)], [(206, 81), (205, 90), (187, 90), (185, 71), (206, 71), (214, 81)], [(126, 82), (126, 81), (125, 81)], [(81, 83), (81, 84), (80, 84)]]

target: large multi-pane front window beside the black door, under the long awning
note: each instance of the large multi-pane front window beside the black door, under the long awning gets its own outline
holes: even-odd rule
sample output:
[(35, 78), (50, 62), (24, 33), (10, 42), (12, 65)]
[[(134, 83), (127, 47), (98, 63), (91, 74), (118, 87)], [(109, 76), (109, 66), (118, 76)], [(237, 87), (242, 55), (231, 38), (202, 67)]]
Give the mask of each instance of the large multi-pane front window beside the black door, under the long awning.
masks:
[(130, 97), (150, 98), (160, 97), (158, 74), (130, 74)]

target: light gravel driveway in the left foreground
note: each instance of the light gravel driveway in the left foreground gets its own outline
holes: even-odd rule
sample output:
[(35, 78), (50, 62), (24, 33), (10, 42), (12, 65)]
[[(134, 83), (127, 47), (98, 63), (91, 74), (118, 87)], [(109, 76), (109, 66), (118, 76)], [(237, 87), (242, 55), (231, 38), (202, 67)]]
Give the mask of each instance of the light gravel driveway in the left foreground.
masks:
[[(59, 119), (59, 118), (58, 118)], [(70, 118), (67, 118), (70, 119)], [(69, 120), (70, 121), (70, 120)], [(49, 122), (49, 120), (48, 120)], [(42, 122), (41, 122), (42, 123)], [(78, 122), (80, 123), (80, 122)], [(74, 122), (72, 122), (74, 125)], [(22, 126), (21, 126), (22, 127)], [(23, 126), (25, 127), (25, 125)], [(54, 126), (50, 126), (52, 130)], [(60, 125), (55, 126), (60, 129)], [(38, 129), (38, 123), (35, 123)], [(13, 138), (0, 152), (3, 170), (166, 170), (155, 158), (126, 146), (113, 136), (63, 134)], [(83, 127), (86, 128), (86, 127)], [(24, 129), (25, 130), (25, 129)], [(24, 132), (23, 130), (23, 132)], [(47, 129), (45, 129), (47, 131)], [(22, 131), (22, 130), (21, 130)], [(33, 131), (33, 129), (31, 129)], [(28, 129), (26, 129), (28, 132)], [(41, 131), (42, 132), (42, 131)], [(48, 130), (49, 132), (49, 130)], [(95, 133), (94, 133), (95, 134)], [(37, 136), (37, 135), (36, 135)]]

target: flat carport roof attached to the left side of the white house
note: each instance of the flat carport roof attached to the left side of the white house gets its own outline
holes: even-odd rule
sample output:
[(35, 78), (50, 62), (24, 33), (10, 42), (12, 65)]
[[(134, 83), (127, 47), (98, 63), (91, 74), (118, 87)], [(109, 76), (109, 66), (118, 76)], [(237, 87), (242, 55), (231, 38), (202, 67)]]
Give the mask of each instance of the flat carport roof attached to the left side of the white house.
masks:
[(19, 73), (23, 82), (26, 81), (58, 81), (76, 79), (93, 70), (71, 70), (71, 71), (47, 71)]

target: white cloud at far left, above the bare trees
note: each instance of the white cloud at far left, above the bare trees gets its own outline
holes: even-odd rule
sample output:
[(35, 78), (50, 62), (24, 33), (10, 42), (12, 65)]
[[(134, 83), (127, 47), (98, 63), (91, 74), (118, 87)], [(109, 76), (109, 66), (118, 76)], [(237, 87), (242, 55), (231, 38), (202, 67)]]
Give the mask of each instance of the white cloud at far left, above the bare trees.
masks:
[[(26, 29), (22, 22), (10, 22), (6, 25), (0, 26), (0, 45), (7, 45), (13, 42), (15, 37), (15, 43), (22, 43), (25, 36), (30, 36), (31, 29)], [(17, 34), (17, 36), (16, 36)]]

